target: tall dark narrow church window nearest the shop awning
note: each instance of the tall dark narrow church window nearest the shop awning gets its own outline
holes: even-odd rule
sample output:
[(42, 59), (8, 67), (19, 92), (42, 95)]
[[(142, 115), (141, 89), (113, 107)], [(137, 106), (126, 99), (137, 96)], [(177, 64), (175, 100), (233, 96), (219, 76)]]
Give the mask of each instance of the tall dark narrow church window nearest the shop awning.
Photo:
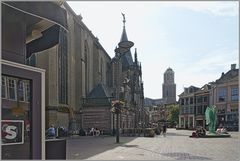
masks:
[(67, 33), (60, 28), (58, 52), (58, 90), (59, 103), (67, 104)]

